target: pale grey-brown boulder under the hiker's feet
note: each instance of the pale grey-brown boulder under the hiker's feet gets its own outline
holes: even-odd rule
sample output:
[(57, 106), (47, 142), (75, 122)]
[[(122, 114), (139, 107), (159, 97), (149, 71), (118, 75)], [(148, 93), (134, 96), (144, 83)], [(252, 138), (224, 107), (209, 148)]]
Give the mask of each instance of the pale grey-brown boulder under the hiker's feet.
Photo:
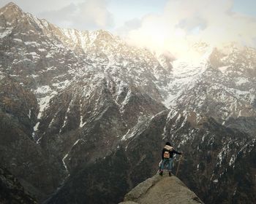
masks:
[(198, 204), (203, 202), (176, 176), (167, 176), (167, 174), (159, 176), (157, 174), (138, 184), (138, 186), (125, 195), (124, 202), (119, 204), (132, 203)]

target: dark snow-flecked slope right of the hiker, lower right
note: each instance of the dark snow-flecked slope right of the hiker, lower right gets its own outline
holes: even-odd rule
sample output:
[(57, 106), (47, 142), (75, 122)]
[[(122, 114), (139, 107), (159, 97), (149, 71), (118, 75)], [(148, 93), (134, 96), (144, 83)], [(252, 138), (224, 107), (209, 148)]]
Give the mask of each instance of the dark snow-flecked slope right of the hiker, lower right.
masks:
[(213, 119), (199, 128), (183, 124), (181, 129), (169, 128), (170, 141), (188, 152), (179, 173), (187, 186), (205, 203), (255, 202), (255, 164), (246, 162), (255, 157), (255, 139)]

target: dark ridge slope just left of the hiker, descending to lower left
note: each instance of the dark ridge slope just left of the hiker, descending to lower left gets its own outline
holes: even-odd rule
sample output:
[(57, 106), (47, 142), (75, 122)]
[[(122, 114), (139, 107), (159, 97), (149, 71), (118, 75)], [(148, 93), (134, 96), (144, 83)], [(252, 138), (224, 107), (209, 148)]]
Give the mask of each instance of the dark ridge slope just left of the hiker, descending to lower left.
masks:
[(156, 172), (159, 158), (156, 149), (161, 148), (157, 133), (163, 128), (163, 120), (159, 119), (162, 114), (132, 129), (126, 136), (129, 142), (126, 138), (113, 153), (84, 164), (47, 203), (121, 202), (129, 189)]

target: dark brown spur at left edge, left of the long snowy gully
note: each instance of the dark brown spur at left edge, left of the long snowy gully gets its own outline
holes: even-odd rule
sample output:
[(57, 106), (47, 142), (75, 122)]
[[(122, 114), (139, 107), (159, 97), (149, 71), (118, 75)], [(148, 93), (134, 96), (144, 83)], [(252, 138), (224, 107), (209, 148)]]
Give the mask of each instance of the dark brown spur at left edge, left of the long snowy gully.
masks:
[(1, 166), (9, 169), (39, 199), (58, 185), (61, 171), (54, 171), (32, 138), (38, 111), (34, 95), (6, 77), (0, 82)]

